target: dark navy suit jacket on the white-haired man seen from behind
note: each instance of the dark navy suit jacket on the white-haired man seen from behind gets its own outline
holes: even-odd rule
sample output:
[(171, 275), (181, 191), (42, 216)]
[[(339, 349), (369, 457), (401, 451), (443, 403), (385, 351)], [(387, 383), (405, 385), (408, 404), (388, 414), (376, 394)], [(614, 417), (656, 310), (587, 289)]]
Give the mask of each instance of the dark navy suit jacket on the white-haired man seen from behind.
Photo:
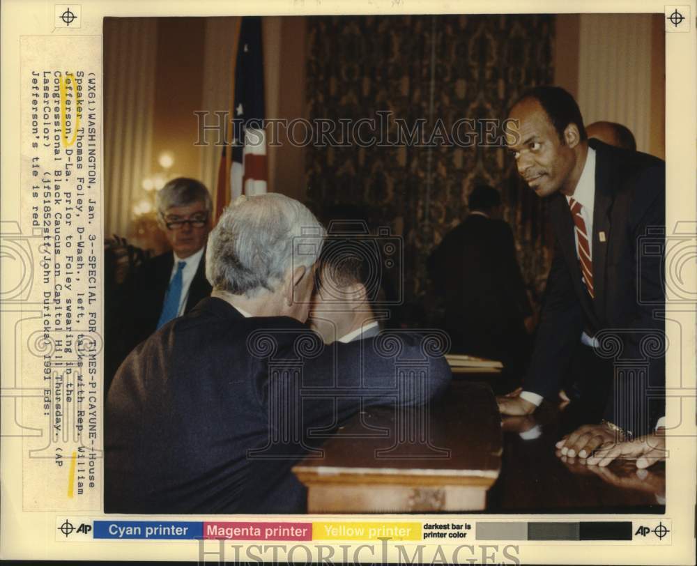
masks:
[[(358, 411), (365, 388), (372, 404), (410, 405), (447, 387), (445, 359), (424, 357), (412, 333), (401, 337), (401, 358), (427, 367), (427, 397), (395, 390), (393, 344), (376, 348), (379, 338), (325, 348), (294, 319), (245, 319), (223, 300), (201, 301), (132, 351), (114, 378), (105, 417), (105, 510), (303, 512), (305, 489), (290, 468), (312, 448), (307, 430), (335, 415), (332, 396), (344, 401), (341, 420)], [(288, 418), (290, 429), (279, 425)], [(249, 450), (260, 449), (250, 458)]]

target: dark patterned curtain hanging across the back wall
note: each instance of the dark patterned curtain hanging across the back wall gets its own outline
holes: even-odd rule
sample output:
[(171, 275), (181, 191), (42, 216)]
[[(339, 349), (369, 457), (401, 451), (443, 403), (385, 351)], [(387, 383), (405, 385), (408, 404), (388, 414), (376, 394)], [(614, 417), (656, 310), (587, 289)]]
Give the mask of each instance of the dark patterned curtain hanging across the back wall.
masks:
[[(503, 119), (524, 90), (553, 81), (553, 24), (549, 15), (310, 17), (309, 117), (378, 121), (389, 111), (424, 120), (427, 138), (459, 118)], [(407, 322), (429, 322), (427, 257), (466, 215), (477, 182), (502, 193), (526, 281), (546, 274), (544, 204), (505, 148), (310, 146), (307, 175), (315, 208), (364, 204), (372, 224), (403, 236), (404, 297), (415, 305)]]

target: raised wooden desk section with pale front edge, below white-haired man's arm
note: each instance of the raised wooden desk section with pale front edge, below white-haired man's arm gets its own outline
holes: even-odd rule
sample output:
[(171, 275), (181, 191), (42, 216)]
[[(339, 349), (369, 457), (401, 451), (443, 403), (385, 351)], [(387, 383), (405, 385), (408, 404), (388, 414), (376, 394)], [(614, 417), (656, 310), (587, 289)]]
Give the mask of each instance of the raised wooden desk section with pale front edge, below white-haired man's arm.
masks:
[(322, 448), (293, 468), (309, 513), (483, 510), (501, 467), (501, 421), (488, 385), (454, 381), (429, 406), (355, 415)]

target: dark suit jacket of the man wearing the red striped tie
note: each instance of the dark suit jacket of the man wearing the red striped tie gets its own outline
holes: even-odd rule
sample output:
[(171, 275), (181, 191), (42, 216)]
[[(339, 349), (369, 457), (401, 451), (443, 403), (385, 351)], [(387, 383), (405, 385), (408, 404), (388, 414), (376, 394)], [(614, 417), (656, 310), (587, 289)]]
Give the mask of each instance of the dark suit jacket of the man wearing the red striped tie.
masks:
[[(599, 355), (620, 362), (636, 360), (638, 373), (641, 367), (648, 372), (650, 383), (645, 376), (620, 372), (614, 382), (618, 395), (611, 394), (605, 412), (608, 420), (643, 434), (664, 411), (664, 355), (652, 351), (652, 345), (662, 340), (664, 328), (654, 311), (664, 308), (665, 164), (652, 155), (622, 150), (596, 139), (590, 139), (589, 144), (596, 150), (592, 234), (595, 300), (581, 281), (567, 199), (557, 192), (549, 202), (556, 253), (523, 387), (556, 398), (568, 360), (585, 330), (601, 342)], [(657, 232), (652, 243), (645, 245), (648, 229)]]

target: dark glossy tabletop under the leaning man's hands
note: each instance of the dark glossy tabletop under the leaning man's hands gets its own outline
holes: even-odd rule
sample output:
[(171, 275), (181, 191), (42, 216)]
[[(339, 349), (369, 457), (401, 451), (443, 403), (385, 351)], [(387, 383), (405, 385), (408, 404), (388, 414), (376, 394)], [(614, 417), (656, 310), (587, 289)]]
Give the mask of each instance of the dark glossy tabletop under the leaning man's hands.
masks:
[[(487, 513), (663, 513), (666, 466), (637, 471), (616, 460), (607, 468), (560, 458), (555, 443), (588, 422), (593, 408), (544, 401), (533, 415), (503, 418), (503, 461), (487, 493)], [(602, 408), (596, 416), (602, 416)]]

